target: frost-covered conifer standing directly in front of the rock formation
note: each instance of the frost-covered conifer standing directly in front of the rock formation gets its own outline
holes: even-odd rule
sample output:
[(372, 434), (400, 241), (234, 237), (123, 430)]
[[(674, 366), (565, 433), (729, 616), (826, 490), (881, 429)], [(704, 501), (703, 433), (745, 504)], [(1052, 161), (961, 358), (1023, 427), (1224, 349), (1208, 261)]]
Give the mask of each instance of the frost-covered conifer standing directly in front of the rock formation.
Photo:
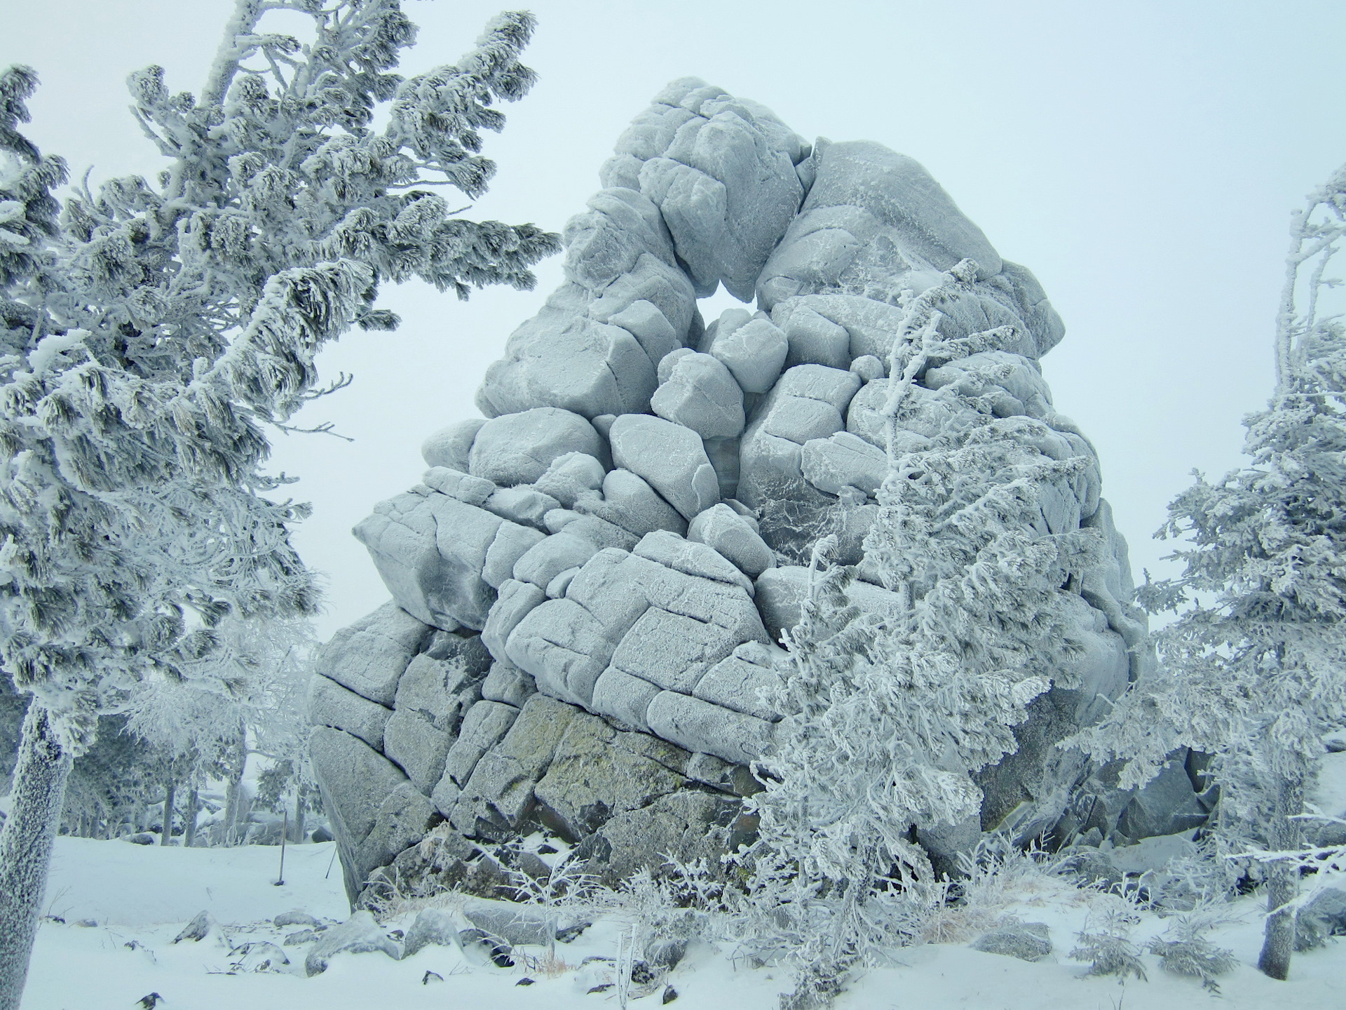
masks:
[(942, 893), (919, 842), (946, 854), (975, 843), (972, 773), (1018, 749), (1014, 726), (1054, 679), (1073, 685), (1078, 609), (1061, 587), (1097, 563), (1101, 537), (1051, 533), (1043, 502), (1092, 457), (1042, 448), (1073, 426), (997, 417), (989, 401), (949, 385), (934, 396), (961, 420), (917, 451), (899, 440), (909, 393), (933, 361), (1012, 346), (1008, 327), (938, 335), (940, 307), (975, 275), (964, 261), (909, 298), (892, 349), (890, 470), (865, 563), (902, 611), (851, 606), (856, 570), (822, 568), (824, 540), (789, 633), (777, 699), (785, 718), (763, 762), (766, 790), (752, 800), (760, 835), (748, 852), (762, 910), (756, 956), (785, 956), (797, 970), (786, 1006), (825, 1003), (848, 971), (910, 936), (922, 905)]

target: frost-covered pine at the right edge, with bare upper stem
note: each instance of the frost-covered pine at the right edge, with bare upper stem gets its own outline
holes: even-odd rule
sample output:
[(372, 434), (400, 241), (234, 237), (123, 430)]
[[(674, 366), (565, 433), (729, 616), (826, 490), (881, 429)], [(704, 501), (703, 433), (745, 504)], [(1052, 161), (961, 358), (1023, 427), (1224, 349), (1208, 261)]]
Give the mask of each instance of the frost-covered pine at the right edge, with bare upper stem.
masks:
[[(1346, 237), (1346, 166), (1292, 218), (1276, 315), (1276, 386), (1245, 419), (1249, 462), (1168, 506), (1183, 574), (1141, 587), (1160, 672), (1082, 742), (1128, 760), (1121, 785), (1175, 747), (1213, 755), (1225, 854), (1269, 850), (1259, 967), (1287, 978), (1304, 807), (1324, 735), (1346, 723), (1346, 326), (1330, 276)], [(1333, 304), (1337, 299), (1337, 304)], [(1281, 855), (1276, 855), (1281, 854)]]

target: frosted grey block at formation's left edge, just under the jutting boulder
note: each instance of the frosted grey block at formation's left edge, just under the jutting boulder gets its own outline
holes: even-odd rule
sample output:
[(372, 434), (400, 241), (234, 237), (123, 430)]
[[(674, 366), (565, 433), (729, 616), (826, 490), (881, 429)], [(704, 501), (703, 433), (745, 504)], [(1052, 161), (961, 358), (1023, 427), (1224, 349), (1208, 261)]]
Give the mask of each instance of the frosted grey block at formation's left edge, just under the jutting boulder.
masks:
[(318, 650), (315, 668), (357, 695), (390, 706), (397, 681), (432, 632), (389, 602), (336, 632)]

